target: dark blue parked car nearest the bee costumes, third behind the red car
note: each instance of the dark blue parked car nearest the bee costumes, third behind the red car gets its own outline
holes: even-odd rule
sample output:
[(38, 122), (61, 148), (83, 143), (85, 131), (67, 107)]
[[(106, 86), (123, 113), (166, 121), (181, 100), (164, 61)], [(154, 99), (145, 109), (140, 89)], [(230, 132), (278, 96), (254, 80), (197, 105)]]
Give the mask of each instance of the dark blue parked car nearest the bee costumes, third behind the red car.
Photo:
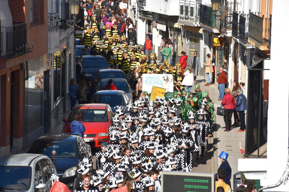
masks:
[(101, 69), (110, 69), (108, 62), (100, 55), (85, 55), (80, 57), (82, 70), (81, 80), (92, 81)]

